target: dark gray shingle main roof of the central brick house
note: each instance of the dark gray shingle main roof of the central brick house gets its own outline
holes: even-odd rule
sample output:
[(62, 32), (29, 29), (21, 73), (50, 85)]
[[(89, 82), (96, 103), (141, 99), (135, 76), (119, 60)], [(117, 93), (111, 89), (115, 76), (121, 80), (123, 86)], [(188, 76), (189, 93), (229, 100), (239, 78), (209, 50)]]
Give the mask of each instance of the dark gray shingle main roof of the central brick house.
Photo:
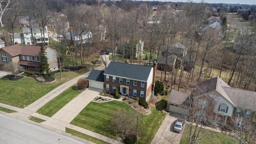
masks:
[(127, 64), (111, 61), (104, 75), (114, 75), (118, 77), (130, 78), (135, 80), (147, 81), (150, 71), (153, 68), (150, 66), (141, 66), (136, 64)]

